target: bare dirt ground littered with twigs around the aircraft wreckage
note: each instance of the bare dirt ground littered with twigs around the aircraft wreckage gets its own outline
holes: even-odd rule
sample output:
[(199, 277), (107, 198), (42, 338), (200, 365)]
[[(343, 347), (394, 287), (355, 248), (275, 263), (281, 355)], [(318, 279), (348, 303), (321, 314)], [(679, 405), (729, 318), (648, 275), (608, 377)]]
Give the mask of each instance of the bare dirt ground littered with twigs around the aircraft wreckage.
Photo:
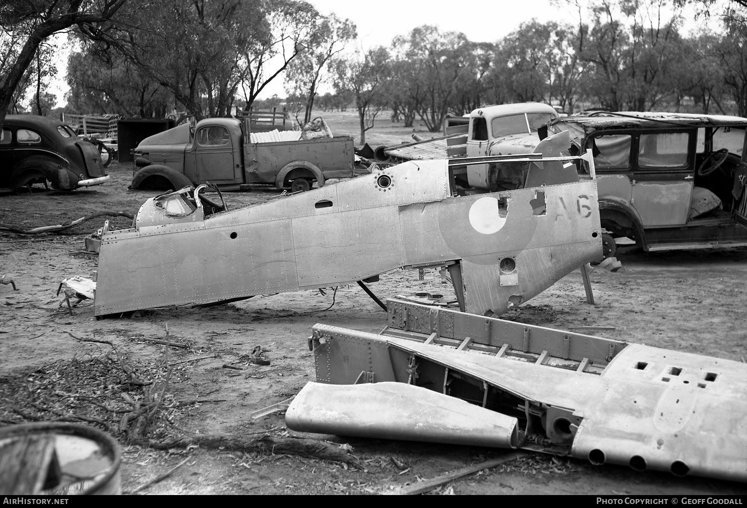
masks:
[[(324, 116), (333, 133), (357, 140), (352, 112)], [(367, 137), (374, 147), (394, 145), (411, 132), (385, 120)], [(127, 190), (129, 165), (113, 163), (108, 169), (111, 182), (96, 188), (2, 195), (0, 223), (31, 229), (96, 211), (134, 214), (155, 195)], [(269, 189), (225, 196), (229, 207), (282, 199)], [(140, 490), (149, 494), (391, 492), (506, 453), (301, 435), (285, 429), (277, 412), (252, 420), (253, 411), (292, 397), (314, 380), (307, 346), (314, 323), (379, 332), (385, 313), (351, 285), (323, 293), (267, 294), (206, 309), (96, 320), (87, 305), (70, 315), (55, 293), (66, 277), (93, 278), (96, 255), (83, 250), (83, 239), (102, 223), (103, 218), (96, 219), (62, 234), (0, 233), (0, 276), (13, 274), (18, 288), (0, 285), (0, 425), (62, 420), (108, 430), (123, 447), (123, 492), (134, 492), (186, 459), (173, 474)], [(110, 229), (129, 223), (117, 217)], [(690, 353), (747, 358), (747, 249), (633, 251), (619, 259), (623, 270), (592, 273), (596, 305), (586, 303), (576, 271), (504, 317)], [(433, 270), (426, 271), (424, 280), (417, 270), (394, 270), (370, 287), (382, 298), (451, 292)], [(256, 346), (270, 365), (252, 362)], [(747, 486), (534, 454), (454, 480), (435, 492), (746, 495)]]

